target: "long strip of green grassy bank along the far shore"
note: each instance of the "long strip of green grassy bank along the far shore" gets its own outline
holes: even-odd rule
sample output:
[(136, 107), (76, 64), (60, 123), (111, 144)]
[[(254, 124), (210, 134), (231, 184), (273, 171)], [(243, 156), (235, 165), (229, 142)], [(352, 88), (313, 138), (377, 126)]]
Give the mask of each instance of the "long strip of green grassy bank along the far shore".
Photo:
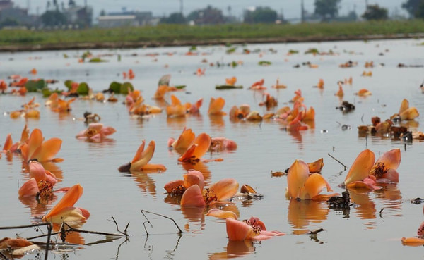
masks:
[[(310, 40), (360, 39), (368, 35), (380, 38), (424, 33), (424, 20), (358, 23), (315, 23), (297, 25), (158, 25), (87, 30), (0, 30), (0, 48), (16, 50), (39, 45), (57, 47), (125, 47), (128, 45), (214, 44), (221, 42), (295, 42)], [(123, 44), (123, 43), (126, 44)], [(79, 44), (79, 45), (78, 45)], [(26, 48), (25, 48), (26, 47)], [(49, 48), (50, 47), (50, 48)], [(81, 49), (81, 48), (80, 48)]]

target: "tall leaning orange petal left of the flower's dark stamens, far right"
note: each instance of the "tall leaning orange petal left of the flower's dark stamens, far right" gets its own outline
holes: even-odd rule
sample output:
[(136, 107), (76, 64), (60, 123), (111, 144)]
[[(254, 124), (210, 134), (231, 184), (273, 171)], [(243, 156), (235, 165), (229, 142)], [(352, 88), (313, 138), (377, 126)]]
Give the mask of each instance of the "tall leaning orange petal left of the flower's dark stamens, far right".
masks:
[(371, 150), (365, 149), (364, 151), (361, 151), (353, 162), (348, 175), (346, 175), (344, 184), (347, 186), (351, 182), (367, 178), (372, 166), (374, 165), (374, 161), (375, 155)]

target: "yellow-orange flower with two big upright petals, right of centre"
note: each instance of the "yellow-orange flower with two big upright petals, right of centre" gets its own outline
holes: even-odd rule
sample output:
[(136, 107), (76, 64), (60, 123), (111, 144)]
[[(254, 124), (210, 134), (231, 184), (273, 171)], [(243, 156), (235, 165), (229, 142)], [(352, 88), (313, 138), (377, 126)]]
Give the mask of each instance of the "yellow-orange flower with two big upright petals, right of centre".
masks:
[(291, 199), (322, 199), (332, 195), (319, 195), (326, 187), (327, 192), (332, 191), (329, 183), (319, 173), (310, 173), (309, 166), (302, 160), (296, 160), (287, 173), (287, 193)]

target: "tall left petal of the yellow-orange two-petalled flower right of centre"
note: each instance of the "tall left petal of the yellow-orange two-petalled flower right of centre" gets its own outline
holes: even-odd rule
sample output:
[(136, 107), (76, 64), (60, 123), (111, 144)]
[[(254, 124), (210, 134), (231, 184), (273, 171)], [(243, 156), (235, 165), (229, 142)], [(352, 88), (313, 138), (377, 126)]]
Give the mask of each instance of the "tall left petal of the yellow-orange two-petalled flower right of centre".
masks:
[(288, 197), (295, 199), (300, 197), (300, 190), (309, 177), (309, 167), (302, 160), (296, 160), (288, 169), (287, 185)]

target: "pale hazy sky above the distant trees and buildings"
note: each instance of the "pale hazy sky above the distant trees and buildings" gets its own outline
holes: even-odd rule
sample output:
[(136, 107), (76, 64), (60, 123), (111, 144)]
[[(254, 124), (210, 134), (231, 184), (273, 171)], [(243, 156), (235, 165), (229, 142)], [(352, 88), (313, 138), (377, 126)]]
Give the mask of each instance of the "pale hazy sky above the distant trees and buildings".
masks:
[[(62, 0), (58, 0), (61, 3)], [(63, 0), (67, 6), (69, 0)], [(74, 0), (76, 4), (83, 5), (84, 0)], [(300, 17), (300, 0), (86, 0), (89, 6), (93, 6), (94, 18), (104, 9), (108, 12), (126, 10), (151, 11), (153, 16), (167, 16), (170, 13), (179, 12), (180, 4), (183, 4), (183, 13), (187, 16), (191, 11), (205, 8), (210, 4), (213, 7), (220, 8), (225, 15), (228, 15), (228, 6), (231, 7), (231, 14), (238, 18), (242, 17), (243, 10), (252, 6), (269, 6), (278, 13), (283, 12), (286, 19)], [(365, 3), (379, 4), (389, 10), (389, 15), (398, 13), (407, 16), (406, 11), (401, 8), (401, 4), (406, 0), (341, 0), (339, 14), (347, 14), (355, 10), (360, 16), (365, 11)], [(16, 6), (28, 8), (30, 13), (39, 14), (45, 12), (47, 0), (14, 0)], [(213, 4), (211, 4), (213, 3)], [(304, 0), (305, 9), (314, 12), (314, 0)]]

